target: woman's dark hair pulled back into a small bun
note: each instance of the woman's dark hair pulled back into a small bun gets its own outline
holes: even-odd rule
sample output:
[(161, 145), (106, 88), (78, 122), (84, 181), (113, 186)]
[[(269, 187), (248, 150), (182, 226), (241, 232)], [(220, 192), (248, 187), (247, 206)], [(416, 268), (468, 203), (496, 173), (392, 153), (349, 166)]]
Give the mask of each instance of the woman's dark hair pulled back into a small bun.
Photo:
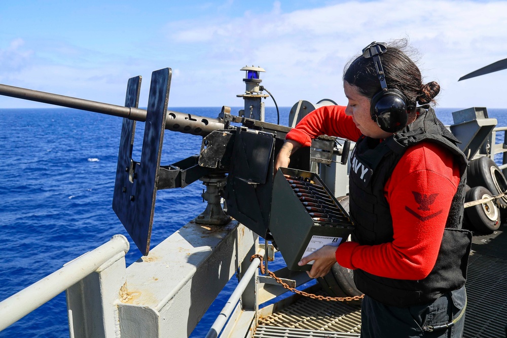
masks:
[[(409, 107), (415, 107), (416, 102), (434, 105), (437, 103), (434, 97), (440, 92), (440, 85), (435, 81), (422, 84), (421, 71), (404, 52), (407, 46), (406, 39), (392, 41), (380, 56), (387, 88), (400, 90), (407, 98)], [(343, 81), (356, 86), (359, 93), (370, 100), (382, 90), (373, 58), (365, 58), (362, 54), (345, 65)]]

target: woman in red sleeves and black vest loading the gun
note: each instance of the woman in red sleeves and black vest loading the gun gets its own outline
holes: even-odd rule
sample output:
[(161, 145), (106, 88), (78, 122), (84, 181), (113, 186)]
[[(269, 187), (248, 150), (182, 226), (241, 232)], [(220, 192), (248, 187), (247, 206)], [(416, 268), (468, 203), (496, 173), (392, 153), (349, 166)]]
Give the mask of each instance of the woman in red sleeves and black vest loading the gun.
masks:
[[(472, 235), (461, 230), (466, 159), (429, 103), (405, 40), (368, 45), (346, 66), (347, 106), (312, 111), (289, 132), (275, 163), (318, 135), (356, 141), (349, 175), (352, 241), (303, 258), (310, 277), (338, 262), (365, 298), (361, 337), (461, 337)], [(417, 106), (418, 103), (420, 106)]]

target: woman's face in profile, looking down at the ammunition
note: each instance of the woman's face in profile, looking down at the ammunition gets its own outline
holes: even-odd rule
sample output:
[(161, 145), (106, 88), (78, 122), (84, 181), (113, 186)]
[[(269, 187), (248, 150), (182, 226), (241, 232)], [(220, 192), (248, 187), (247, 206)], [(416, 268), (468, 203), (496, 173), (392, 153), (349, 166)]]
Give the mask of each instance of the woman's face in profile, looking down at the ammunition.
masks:
[(356, 86), (352, 86), (347, 81), (343, 82), (345, 96), (348, 98), (345, 114), (352, 117), (355, 125), (365, 136), (373, 138), (386, 138), (392, 135), (380, 129), (377, 122), (372, 120), (370, 115), (370, 99), (359, 94)]

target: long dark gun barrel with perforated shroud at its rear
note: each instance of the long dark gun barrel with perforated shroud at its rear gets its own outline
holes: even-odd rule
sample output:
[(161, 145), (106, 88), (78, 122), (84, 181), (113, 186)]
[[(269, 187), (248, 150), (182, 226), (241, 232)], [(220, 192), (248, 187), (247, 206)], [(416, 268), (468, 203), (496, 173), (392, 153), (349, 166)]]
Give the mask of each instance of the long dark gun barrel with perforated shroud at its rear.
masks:
[[(0, 84), (0, 95), (15, 97), (24, 100), (54, 104), (68, 108), (76, 108), (100, 114), (118, 116), (134, 121), (146, 121), (147, 111), (136, 107), (85, 100), (76, 97), (41, 92), (32, 89), (14, 87)], [(219, 118), (207, 118), (178, 111), (167, 111), (165, 129), (185, 134), (206, 136), (213, 130), (224, 129), (225, 124)]]

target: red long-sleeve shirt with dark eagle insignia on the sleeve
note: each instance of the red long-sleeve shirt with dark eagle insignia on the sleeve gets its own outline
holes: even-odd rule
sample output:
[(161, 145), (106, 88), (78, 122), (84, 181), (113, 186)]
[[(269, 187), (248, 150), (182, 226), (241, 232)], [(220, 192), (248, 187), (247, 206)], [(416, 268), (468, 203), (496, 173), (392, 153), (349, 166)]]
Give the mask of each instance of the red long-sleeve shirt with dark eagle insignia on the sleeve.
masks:
[[(344, 106), (324, 106), (308, 114), (286, 138), (309, 146), (321, 134), (352, 141), (361, 135)], [(423, 279), (437, 260), (458, 183), (459, 168), (446, 149), (427, 141), (408, 148), (384, 186), (393, 241), (345, 242), (336, 250), (336, 260), (343, 267), (381, 277)]]

